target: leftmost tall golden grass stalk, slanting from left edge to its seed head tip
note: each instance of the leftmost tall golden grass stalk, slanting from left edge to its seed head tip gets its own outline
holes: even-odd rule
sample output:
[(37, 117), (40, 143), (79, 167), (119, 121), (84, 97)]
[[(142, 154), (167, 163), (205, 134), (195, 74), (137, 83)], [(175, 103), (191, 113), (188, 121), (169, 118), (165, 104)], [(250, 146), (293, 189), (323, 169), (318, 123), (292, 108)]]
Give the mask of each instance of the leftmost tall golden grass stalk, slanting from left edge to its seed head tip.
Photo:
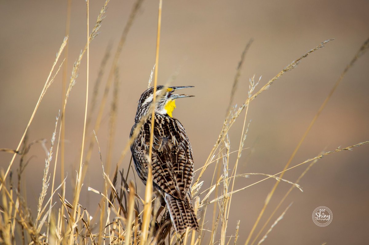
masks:
[[(45, 93), (46, 93), (46, 90), (47, 90), (47, 88), (48, 88), (48, 84), (49, 84), (49, 79), (50, 79), (50, 77), (51, 77), (52, 72), (54, 71), (54, 67), (55, 67), (56, 63), (58, 62), (59, 57), (61, 56), (61, 53), (63, 52), (64, 47), (65, 47), (65, 45), (66, 45), (67, 41), (68, 41), (68, 36), (66, 36), (66, 37), (64, 38), (64, 40), (63, 40), (63, 42), (62, 42), (62, 45), (61, 45), (61, 46), (60, 46), (60, 48), (59, 48), (58, 53), (56, 53), (55, 61), (54, 61), (54, 63), (52, 64), (52, 67), (51, 67), (51, 70), (50, 70), (50, 72), (49, 72), (48, 78), (46, 79), (46, 82), (45, 82), (44, 88), (42, 88), (42, 90), (41, 90), (41, 95), (40, 95), (40, 97), (38, 98), (38, 101), (37, 101), (37, 103), (36, 103), (35, 109), (34, 109), (34, 110), (33, 110), (33, 112), (32, 112), (31, 118), (30, 118), (30, 120), (28, 121), (28, 124), (27, 124), (27, 126), (26, 126), (26, 128), (25, 128), (25, 130), (24, 130), (24, 133), (23, 133), (23, 135), (22, 135), (22, 137), (21, 137), (21, 140), (20, 140), (20, 141), (19, 141), (19, 143), (18, 143), (17, 148), (15, 149), (15, 152), (18, 152), (18, 150), (20, 149), (20, 147), (21, 147), (21, 145), (22, 145), (23, 139), (24, 139), (25, 135), (27, 134), (28, 128), (30, 127), (30, 125), (31, 125), (31, 123), (32, 123), (32, 120), (33, 120), (33, 118), (34, 118), (34, 116), (35, 116), (35, 114), (36, 114), (36, 111), (37, 111), (37, 109), (38, 109), (38, 107), (39, 107), (39, 105), (40, 105), (40, 103), (41, 103), (41, 100), (42, 100), (42, 98), (44, 97), (44, 95), (45, 95)], [(5, 175), (4, 175), (4, 179), (3, 179), (4, 181), (6, 180), (6, 177), (8, 176), (8, 173), (9, 173), (9, 171), (10, 171), (10, 168), (11, 168), (11, 166), (13, 165), (13, 162), (14, 162), (15, 156), (17, 156), (17, 153), (14, 153), (14, 155), (13, 155), (12, 159), (10, 160), (9, 166), (8, 166), (8, 168), (7, 168), (6, 172), (5, 172)], [(0, 190), (1, 190), (1, 188), (3, 188), (3, 183), (1, 183), (1, 184), (0, 184)]]

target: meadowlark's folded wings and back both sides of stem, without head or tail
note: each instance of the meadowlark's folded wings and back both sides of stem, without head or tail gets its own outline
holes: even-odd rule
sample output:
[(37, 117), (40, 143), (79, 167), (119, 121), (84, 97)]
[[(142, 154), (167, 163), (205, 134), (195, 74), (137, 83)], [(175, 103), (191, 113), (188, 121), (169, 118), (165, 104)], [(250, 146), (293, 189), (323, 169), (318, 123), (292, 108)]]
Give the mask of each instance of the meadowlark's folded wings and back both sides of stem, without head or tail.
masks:
[[(142, 125), (131, 146), (139, 177), (147, 179), (151, 117)], [(175, 118), (155, 115), (152, 177), (159, 191), (185, 199), (193, 178), (192, 148), (182, 124)], [(132, 128), (133, 129), (133, 128)], [(132, 132), (131, 132), (132, 134)]]

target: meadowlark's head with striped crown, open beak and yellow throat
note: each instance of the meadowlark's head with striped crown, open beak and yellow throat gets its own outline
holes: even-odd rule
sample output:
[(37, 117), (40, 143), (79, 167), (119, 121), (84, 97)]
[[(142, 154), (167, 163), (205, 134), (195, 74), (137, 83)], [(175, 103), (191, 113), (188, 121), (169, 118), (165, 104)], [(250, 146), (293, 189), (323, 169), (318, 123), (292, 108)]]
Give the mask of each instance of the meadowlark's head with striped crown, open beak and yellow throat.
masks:
[[(180, 86), (180, 87), (165, 87), (162, 85), (156, 86), (156, 108), (155, 112), (159, 114), (168, 114), (172, 117), (172, 112), (176, 108), (176, 99), (184, 97), (192, 97), (193, 95), (177, 95), (174, 92), (176, 90), (184, 88), (192, 88), (193, 86)], [(152, 100), (154, 98), (154, 87), (147, 89), (142, 93), (137, 107), (137, 113), (135, 121), (138, 122), (139, 119), (148, 113)]]

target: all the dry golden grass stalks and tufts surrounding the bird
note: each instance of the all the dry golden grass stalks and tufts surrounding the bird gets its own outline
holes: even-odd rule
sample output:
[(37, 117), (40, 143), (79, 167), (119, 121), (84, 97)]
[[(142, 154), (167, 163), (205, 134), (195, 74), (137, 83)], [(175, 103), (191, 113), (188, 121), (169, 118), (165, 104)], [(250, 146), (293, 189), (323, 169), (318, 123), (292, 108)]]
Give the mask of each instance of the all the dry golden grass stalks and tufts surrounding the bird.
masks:
[[(134, 180), (128, 180), (128, 173), (130, 172), (131, 163), (127, 169), (123, 169), (123, 171), (119, 171), (120, 163), (123, 159), (123, 156), (127, 153), (127, 150), (132, 142), (132, 138), (137, 135), (137, 130), (134, 131), (133, 136), (129, 139), (126, 148), (122, 152), (121, 159), (115, 166), (115, 171), (113, 177), (109, 176), (110, 166), (111, 166), (111, 156), (113, 154), (113, 140), (115, 133), (115, 125), (116, 125), (116, 113), (117, 113), (117, 100), (119, 95), (119, 70), (118, 70), (118, 58), (120, 57), (120, 53), (122, 47), (124, 45), (125, 39), (128, 35), (128, 31), (132, 26), (132, 22), (142, 4), (142, 0), (137, 0), (134, 8), (132, 9), (130, 18), (127, 22), (127, 25), (124, 28), (122, 33), (122, 37), (118, 48), (114, 55), (113, 65), (111, 66), (110, 73), (106, 82), (106, 87), (104, 90), (103, 97), (101, 101), (97, 101), (97, 95), (99, 92), (99, 85), (101, 82), (101, 77), (104, 72), (104, 69), (107, 64), (107, 60), (110, 55), (110, 48), (108, 48), (106, 52), (106, 56), (103, 58), (101, 62), (99, 78), (97, 79), (95, 89), (93, 90), (92, 95), (92, 107), (88, 111), (88, 91), (89, 91), (89, 43), (96, 37), (97, 31), (101, 26), (101, 22), (104, 19), (104, 14), (107, 9), (109, 0), (107, 0), (102, 7), (100, 14), (97, 18), (96, 24), (91, 33), (88, 32), (89, 26), (87, 24), (87, 43), (84, 49), (82, 49), (79, 57), (77, 58), (73, 70), (72, 75), (69, 81), (68, 88), (65, 86), (62, 89), (64, 92), (64, 100), (62, 103), (61, 109), (61, 124), (59, 125), (59, 133), (58, 137), (57, 128), (58, 128), (58, 119), (56, 118), (55, 130), (51, 137), (51, 146), (46, 154), (45, 161), (45, 169), (44, 169), (44, 177), (42, 179), (42, 189), (39, 196), (37, 216), (32, 217), (31, 210), (27, 205), (27, 201), (25, 200), (24, 195), (22, 195), (21, 183), (24, 181), (21, 177), (24, 174), (24, 168), (27, 165), (25, 162), (25, 156), (28, 153), (30, 147), (37, 142), (27, 143), (27, 130), (32, 123), (32, 120), (35, 116), (35, 113), (41, 103), (42, 98), (47, 92), (49, 86), (52, 85), (55, 76), (58, 74), (62, 66), (59, 66), (59, 69), (53, 74), (54, 67), (58, 62), (63, 49), (66, 47), (68, 38), (63, 40), (61, 48), (58, 51), (57, 57), (52, 65), (51, 71), (46, 79), (44, 88), (41, 91), (41, 95), (39, 100), (35, 106), (35, 109), (30, 117), (30, 120), (27, 124), (25, 132), (21, 137), (21, 140), (16, 149), (0, 149), (5, 153), (13, 154), (13, 158), (11, 159), (7, 170), (1, 170), (0, 173), (0, 196), (1, 196), (1, 205), (0, 205), (0, 243), (1, 244), (14, 244), (14, 243), (23, 243), (23, 244), (191, 244), (191, 245), (200, 245), (202, 243), (219, 243), (221, 245), (228, 245), (232, 241), (234, 244), (239, 243), (239, 231), (240, 229), (240, 221), (237, 224), (228, 224), (228, 218), (232, 213), (231, 204), (232, 204), (232, 195), (239, 191), (242, 191), (248, 187), (256, 185), (262, 181), (268, 179), (275, 179), (276, 184), (273, 187), (272, 191), (267, 195), (265, 205), (262, 207), (261, 212), (259, 213), (258, 219), (254, 223), (254, 227), (249, 232), (248, 238), (245, 241), (245, 244), (249, 244), (252, 240), (251, 244), (254, 244), (259, 240), (258, 244), (261, 244), (265, 239), (267, 239), (270, 232), (272, 232), (273, 227), (275, 227), (280, 220), (282, 220), (283, 216), (286, 214), (287, 209), (290, 207), (287, 206), (284, 212), (276, 218), (273, 224), (270, 224), (270, 220), (276, 213), (277, 209), (282, 205), (283, 201), (286, 199), (287, 195), (292, 191), (293, 188), (297, 187), (301, 191), (301, 187), (299, 182), (301, 178), (306, 174), (306, 172), (317, 162), (318, 159), (323, 158), (324, 156), (331, 155), (333, 153), (341, 152), (344, 150), (352, 150), (352, 148), (362, 146), (368, 144), (369, 141), (361, 142), (352, 146), (348, 146), (345, 148), (337, 148), (332, 151), (327, 151), (324, 153), (320, 153), (319, 155), (303, 161), (302, 163), (296, 164), (293, 167), (289, 167), (294, 155), (299, 149), (301, 143), (304, 141), (306, 135), (310, 131), (311, 126), (314, 124), (317, 117), (321, 114), (324, 109), (325, 104), (330, 99), (335, 89), (337, 88), (339, 82), (344, 78), (344, 75), (349, 70), (349, 68), (355, 63), (355, 61), (362, 56), (369, 47), (369, 39), (363, 44), (363, 46), (359, 49), (358, 53), (355, 54), (353, 60), (349, 63), (349, 65), (342, 72), (338, 81), (332, 88), (331, 92), (327, 96), (327, 99), (323, 102), (320, 109), (317, 111), (317, 114), (313, 118), (310, 123), (308, 129), (304, 133), (301, 138), (300, 143), (296, 146), (296, 149), (290, 160), (287, 162), (286, 166), (282, 171), (276, 174), (263, 174), (263, 173), (249, 173), (249, 174), (238, 174), (237, 167), (239, 163), (239, 159), (242, 154), (242, 150), (244, 150), (244, 142), (246, 141), (246, 136), (250, 127), (250, 120), (248, 120), (248, 110), (251, 102), (260, 95), (263, 91), (270, 88), (270, 86), (277, 79), (281, 78), (287, 71), (295, 68), (301, 60), (306, 58), (311, 53), (317, 51), (322, 48), (326, 43), (331, 40), (326, 40), (322, 42), (320, 45), (311, 49), (307, 53), (303, 54), (301, 57), (294, 60), (291, 64), (287, 65), (282, 71), (280, 71), (275, 77), (270, 79), (261, 89), (256, 90), (259, 83), (261, 83), (261, 77), (255, 80), (255, 76), (252, 77), (249, 81), (249, 92), (247, 97), (245, 98), (245, 102), (239, 107), (232, 107), (234, 94), (237, 92), (237, 82), (239, 77), (241, 76), (241, 68), (245, 59), (245, 54), (251, 45), (251, 41), (246, 45), (244, 51), (241, 55), (241, 61), (239, 62), (238, 69), (234, 79), (234, 85), (232, 86), (232, 92), (230, 96), (230, 103), (227, 110), (227, 116), (224, 120), (223, 127), (218, 136), (217, 141), (215, 142), (213, 149), (211, 150), (207, 160), (204, 162), (203, 166), (199, 168), (197, 171), (197, 179), (193, 183), (192, 195), (194, 199), (194, 207), (195, 212), (199, 217), (200, 231), (189, 231), (185, 234), (175, 234), (172, 230), (170, 217), (166, 210), (161, 210), (160, 202), (153, 195), (152, 189), (152, 173), (151, 168), (148, 171), (148, 181), (145, 189), (145, 196), (141, 198), (137, 190), (137, 184)], [(156, 64), (151, 72), (149, 78), (149, 84), (153, 79), (154, 74), (154, 86), (157, 84), (158, 77), (158, 54), (159, 54), (159, 41), (160, 41), (160, 26), (161, 26), (161, 3), (159, 4), (159, 18), (158, 18), (158, 35), (157, 35), (157, 44), (156, 44)], [(70, 5), (68, 5), (70, 8)], [(89, 1), (87, 1), (87, 23), (89, 20), (88, 15), (88, 7)], [(70, 11), (70, 10), (69, 10)], [(68, 29), (68, 21), (67, 28)], [(67, 32), (68, 33), (68, 32)], [(63, 132), (63, 118), (65, 116), (66, 104), (68, 102), (68, 98), (71, 94), (72, 88), (76, 83), (78, 70), (82, 61), (84, 54), (87, 53), (87, 81), (86, 81), (86, 105), (85, 105), (85, 118), (84, 118), (84, 129), (82, 132), (82, 145), (80, 152), (80, 161), (79, 161), (79, 169), (76, 178), (75, 187), (67, 187), (65, 182), (67, 178), (62, 178), (61, 183), (56, 183), (55, 175), (58, 171), (58, 150), (59, 144), (61, 143), (61, 133)], [(65, 56), (66, 57), (66, 56)], [(63, 76), (65, 77), (65, 75)], [(107, 153), (101, 153), (99, 141), (98, 141), (98, 130), (100, 128), (101, 115), (104, 112), (104, 107), (107, 101), (108, 91), (110, 89), (111, 84), (113, 84), (113, 103), (110, 107), (110, 129), (109, 129), (109, 145)], [(255, 92), (256, 91), (256, 92)], [(89, 118), (89, 114), (92, 114), (92, 111), (95, 109), (96, 104), (100, 104), (99, 112), (94, 124), (94, 135), (91, 137), (85, 135), (86, 127), (88, 127), (88, 122), (92, 120)], [(133, 103), (132, 103), (133, 104)], [(151, 108), (153, 109), (153, 107)], [(89, 113), (88, 113), (89, 112)], [(244, 113), (243, 118), (243, 127), (242, 131), (239, 132), (239, 143), (237, 145), (238, 150), (231, 151), (231, 139), (229, 138), (228, 132), (234, 125), (235, 121), (238, 119), (241, 114)], [(140, 128), (140, 125), (147, 120), (148, 115), (142, 117), (141, 122), (138, 124), (137, 129)], [(153, 127), (152, 127), (153, 128)], [(153, 133), (151, 133), (151, 144), (152, 144)], [(54, 162), (54, 170), (51, 174), (49, 174), (49, 169), (52, 164), (52, 155), (54, 149), (54, 143), (56, 141), (56, 153), (55, 153), (55, 162)], [(87, 152), (84, 152), (84, 145), (89, 144)], [(100, 202), (96, 202), (95, 208), (97, 212), (93, 214), (94, 210), (87, 210), (79, 203), (80, 191), (82, 188), (84, 176), (86, 174), (87, 163), (90, 161), (93, 145), (97, 143), (100, 154), (101, 161), (101, 172), (104, 180), (104, 186), (102, 190), (96, 190), (93, 188), (88, 188), (89, 191), (94, 192), (93, 195), (99, 196)], [(23, 147), (21, 149), (21, 146)], [(62, 147), (63, 149), (63, 147)], [(151, 147), (150, 147), (151, 149)], [(5, 154), (4, 153), (4, 154)], [(237, 157), (235, 161), (232, 161), (231, 155), (237, 153)], [(15, 157), (20, 155), (20, 164), (18, 169), (18, 187), (15, 188), (13, 184), (13, 179), (9, 177), (9, 173), (12, 165), (14, 164)], [(62, 156), (64, 153), (62, 152)], [(106, 161), (103, 161), (103, 157), (106, 156)], [(63, 159), (63, 158), (62, 158)], [(151, 153), (148, 155), (148, 159), (151, 159)], [(84, 160), (84, 161), (83, 161)], [(85, 164), (84, 164), (85, 163)], [(286, 171), (290, 171), (293, 168), (310, 163), (310, 165), (306, 168), (303, 173), (301, 173), (300, 177), (296, 181), (290, 181), (283, 179), (283, 174)], [(61, 164), (63, 168), (63, 162)], [(206, 171), (210, 171), (209, 167), (214, 166), (213, 169), (213, 179), (211, 181), (210, 186), (204, 187), (203, 183), (203, 174)], [(41, 170), (40, 170), (41, 171)], [(125, 173), (124, 173), (125, 171)], [(253, 184), (247, 185), (243, 188), (235, 189), (235, 181), (238, 178), (248, 177), (248, 175), (265, 175), (266, 178), (254, 182)], [(279, 176), (277, 176), (279, 175)], [(63, 175), (62, 175), (63, 176)], [(236, 178), (237, 177), (237, 178)], [(51, 181), (51, 189), (48, 188)], [(268, 220), (263, 224), (262, 228), (259, 230), (256, 236), (254, 235), (254, 231), (258, 226), (259, 220), (263, 216), (266, 206), (268, 205), (270, 199), (272, 198), (273, 192), (277, 188), (277, 184), (279, 182), (286, 182), (291, 185), (289, 191), (284, 195), (283, 199), (276, 206), (272, 214), (269, 216)], [(56, 187), (57, 185), (57, 187)], [(69, 202), (66, 197), (66, 192), (72, 192), (74, 199), (72, 202)], [(57, 196), (57, 197), (55, 197)], [(201, 198), (200, 198), (201, 197)], [(56, 202), (53, 199), (57, 199)], [(213, 203), (214, 205), (210, 205)], [(210, 223), (206, 223), (204, 216), (206, 215), (207, 208), (213, 208), (212, 217)], [(93, 214), (93, 215), (92, 215)], [(259, 238), (263, 234), (263, 230), (269, 224), (270, 228), (265, 234)], [(235, 230), (234, 229), (235, 226)], [(229, 231), (228, 227), (232, 227), (232, 230)], [(210, 229), (210, 230), (208, 230)], [(207, 236), (209, 235), (208, 240)], [(244, 241), (242, 241), (244, 242)]]

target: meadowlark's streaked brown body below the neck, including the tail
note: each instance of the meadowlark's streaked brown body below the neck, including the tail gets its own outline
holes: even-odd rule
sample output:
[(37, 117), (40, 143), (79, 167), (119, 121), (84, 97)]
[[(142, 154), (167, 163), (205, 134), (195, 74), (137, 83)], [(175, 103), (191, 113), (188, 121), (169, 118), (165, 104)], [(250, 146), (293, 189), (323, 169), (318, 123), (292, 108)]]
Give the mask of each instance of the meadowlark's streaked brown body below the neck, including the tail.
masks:
[[(132, 127), (131, 136), (137, 123)], [(142, 124), (131, 145), (137, 173), (146, 184), (147, 155), (149, 153), (151, 116)], [(155, 113), (152, 146), (152, 174), (154, 188), (161, 193), (176, 231), (198, 227), (194, 216), (190, 187), (193, 178), (192, 148), (182, 124), (168, 115)], [(188, 213), (188, 215), (187, 215)]]

